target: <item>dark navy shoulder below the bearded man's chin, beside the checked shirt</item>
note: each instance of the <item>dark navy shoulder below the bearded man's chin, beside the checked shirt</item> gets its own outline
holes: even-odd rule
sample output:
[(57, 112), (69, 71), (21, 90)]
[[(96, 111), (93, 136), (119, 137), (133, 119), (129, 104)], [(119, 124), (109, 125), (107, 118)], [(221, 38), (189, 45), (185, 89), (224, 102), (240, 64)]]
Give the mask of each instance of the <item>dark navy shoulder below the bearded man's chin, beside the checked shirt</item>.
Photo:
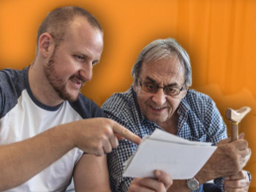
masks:
[(105, 117), (103, 110), (81, 93), (75, 102), (69, 102), (69, 104), (82, 118)]

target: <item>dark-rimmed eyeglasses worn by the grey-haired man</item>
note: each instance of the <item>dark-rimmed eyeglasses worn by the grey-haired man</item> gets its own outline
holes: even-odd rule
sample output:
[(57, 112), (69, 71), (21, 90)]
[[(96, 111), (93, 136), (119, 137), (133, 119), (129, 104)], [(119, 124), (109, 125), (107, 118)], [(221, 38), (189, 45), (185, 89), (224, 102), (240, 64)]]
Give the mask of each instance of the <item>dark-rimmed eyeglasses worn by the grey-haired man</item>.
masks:
[(141, 81), (139, 81), (139, 83), (140, 83), (141, 89), (145, 92), (156, 93), (158, 89), (161, 88), (164, 90), (165, 95), (170, 95), (170, 96), (179, 95), (180, 92), (184, 89), (183, 86), (181, 88), (172, 86), (172, 85), (166, 85), (166, 86), (160, 87), (157, 84), (154, 84), (151, 82), (142, 83)]

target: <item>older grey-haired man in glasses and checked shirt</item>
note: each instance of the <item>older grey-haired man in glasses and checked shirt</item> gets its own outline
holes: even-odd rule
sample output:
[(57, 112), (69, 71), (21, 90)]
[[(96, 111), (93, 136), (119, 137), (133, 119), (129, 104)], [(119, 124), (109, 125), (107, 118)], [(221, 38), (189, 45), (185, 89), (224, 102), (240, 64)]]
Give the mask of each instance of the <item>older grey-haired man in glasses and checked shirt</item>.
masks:
[[(163, 129), (188, 140), (218, 144), (194, 178), (175, 180), (168, 191), (199, 191), (202, 190), (201, 184), (213, 179), (223, 190), (219, 177), (230, 175), (225, 181), (226, 191), (248, 190), (249, 178), (247, 172), (242, 170), (246, 156), (250, 154), (248, 144), (243, 135), (230, 143), (226, 139), (226, 126), (212, 99), (188, 89), (192, 82), (190, 61), (180, 44), (172, 38), (151, 42), (140, 52), (132, 76), (134, 82), (128, 91), (113, 94), (102, 105), (107, 117), (141, 138), (155, 129)], [(140, 179), (122, 177), (124, 161), (137, 147), (123, 140), (108, 154), (112, 191), (124, 192), (129, 186), (143, 185)]]

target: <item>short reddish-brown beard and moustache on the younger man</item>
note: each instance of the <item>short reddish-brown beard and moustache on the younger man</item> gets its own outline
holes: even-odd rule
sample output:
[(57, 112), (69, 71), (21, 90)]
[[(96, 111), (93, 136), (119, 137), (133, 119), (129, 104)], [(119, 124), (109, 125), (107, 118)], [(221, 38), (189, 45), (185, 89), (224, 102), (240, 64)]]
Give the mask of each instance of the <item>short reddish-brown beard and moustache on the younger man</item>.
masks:
[[(72, 96), (70, 93), (68, 93), (68, 90), (67, 90), (68, 81), (65, 81), (63, 78), (58, 76), (56, 69), (54, 68), (55, 50), (56, 50), (56, 47), (54, 48), (54, 51), (52, 53), (50, 60), (44, 66), (44, 74), (48, 79), (49, 83), (52, 85), (53, 89), (56, 91), (56, 93), (59, 95), (61, 99), (74, 102), (77, 100), (78, 94), (76, 96)], [(73, 79), (73, 78), (81, 79), (80, 76), (77, 76), (75, 74), (69, 77), (69, 79)]]

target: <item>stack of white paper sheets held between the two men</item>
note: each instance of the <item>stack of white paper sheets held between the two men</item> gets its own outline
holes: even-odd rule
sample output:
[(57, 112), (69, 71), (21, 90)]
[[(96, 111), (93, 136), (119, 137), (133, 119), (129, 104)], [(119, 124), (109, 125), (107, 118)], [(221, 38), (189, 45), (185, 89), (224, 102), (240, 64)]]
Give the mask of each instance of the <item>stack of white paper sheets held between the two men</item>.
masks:
[(163, 170), (172, 179), (190, 179), (203, 167), (217, 147), (188, 141), (156, 129), (143, 139), (137, 151), (124, 163), (124, 177), (154, 177)]

